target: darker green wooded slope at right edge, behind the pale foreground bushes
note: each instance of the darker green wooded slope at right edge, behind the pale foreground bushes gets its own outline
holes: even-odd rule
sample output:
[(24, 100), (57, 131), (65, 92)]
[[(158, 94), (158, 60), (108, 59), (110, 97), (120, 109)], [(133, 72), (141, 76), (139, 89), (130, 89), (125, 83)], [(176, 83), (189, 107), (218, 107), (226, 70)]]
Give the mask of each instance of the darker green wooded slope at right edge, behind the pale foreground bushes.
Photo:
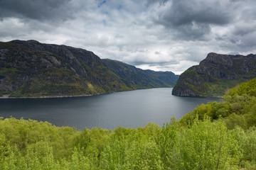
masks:
[(220, 103), (201, 104), (181, 118), (181, 125), (189, 125), (196, 118), (203, 120), (208, 115), (211, 120), (223, 118), (229, 129), (239, 125), (247, 129), (256, 125), (256, 79), (242, 83), (223, 97)]

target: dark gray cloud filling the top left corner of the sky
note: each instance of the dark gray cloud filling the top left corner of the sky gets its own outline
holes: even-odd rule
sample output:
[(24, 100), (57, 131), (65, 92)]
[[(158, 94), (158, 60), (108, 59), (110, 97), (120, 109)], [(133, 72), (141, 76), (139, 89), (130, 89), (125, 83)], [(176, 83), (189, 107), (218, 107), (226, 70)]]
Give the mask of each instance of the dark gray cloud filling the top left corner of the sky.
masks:
[(1, 0), (0, 18), (17, 17), (36, 20), (65, 20), (72, 13), (70, 0)]

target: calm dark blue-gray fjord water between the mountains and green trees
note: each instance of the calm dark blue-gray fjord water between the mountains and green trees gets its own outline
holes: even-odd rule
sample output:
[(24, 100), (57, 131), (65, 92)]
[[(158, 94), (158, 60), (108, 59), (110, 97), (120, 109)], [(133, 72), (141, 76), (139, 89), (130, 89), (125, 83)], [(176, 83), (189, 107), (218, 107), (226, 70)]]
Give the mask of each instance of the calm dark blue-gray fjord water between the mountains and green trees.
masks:
[(78, 130), (85, 127), (114, 130), (118, 126), (143, 127), (149, 122), (161, 126), (172, 116), (179, 119), (201, 103), (220, 101), (220, 98), (172, 96), (171, 90), (145, 89), (75, 98), (0, 99), (0, 117), (31, 118)]

